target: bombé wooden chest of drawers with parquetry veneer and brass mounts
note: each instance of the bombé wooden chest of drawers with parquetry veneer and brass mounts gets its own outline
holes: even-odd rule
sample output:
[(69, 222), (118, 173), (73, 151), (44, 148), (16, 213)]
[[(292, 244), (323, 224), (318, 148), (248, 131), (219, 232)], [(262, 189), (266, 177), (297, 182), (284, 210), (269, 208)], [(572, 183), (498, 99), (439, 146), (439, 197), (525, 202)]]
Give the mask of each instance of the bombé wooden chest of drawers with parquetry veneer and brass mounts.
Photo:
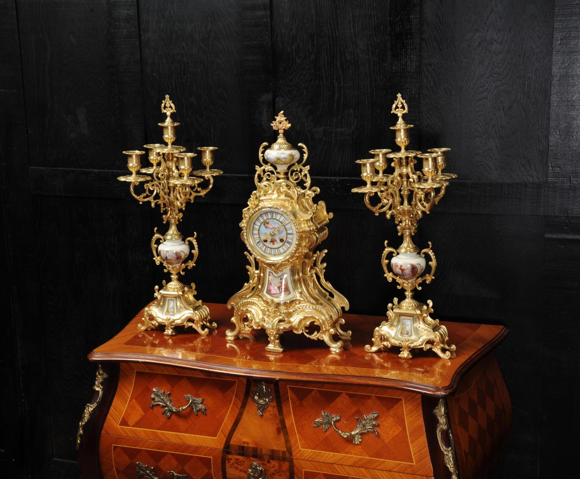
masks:
[[(378, 317), (346, 315), (350, 350), (257, 332), (137, 332), (137, 315), (89, 355), (95, 398), (79, 429), (84, 479), (490, 477), (505, 452), (510, 401), (490, 325), (448, 324), (458, 356), (365, 353)], [(220, 334), (220, 332), (222, 334)]]

